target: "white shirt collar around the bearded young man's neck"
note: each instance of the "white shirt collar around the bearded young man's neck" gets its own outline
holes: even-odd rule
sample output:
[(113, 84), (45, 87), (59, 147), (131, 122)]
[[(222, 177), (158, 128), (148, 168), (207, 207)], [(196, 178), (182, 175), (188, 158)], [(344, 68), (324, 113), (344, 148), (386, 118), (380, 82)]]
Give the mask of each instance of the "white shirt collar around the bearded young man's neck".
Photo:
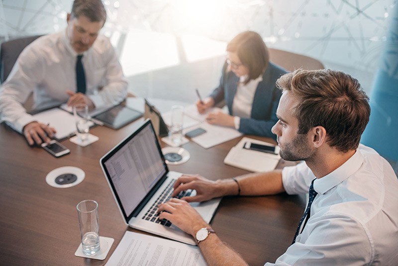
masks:
[(357, 149), (354, 155), (351, 156), (345, 163), (338, 167), (333, 172), (325, 175), (322, 178), (314, 181), (314, 190), (320, 194), (326, 193), (328, 190), (337, 186), (349, 176), (354, 174), (362, 165), (364, 157)]

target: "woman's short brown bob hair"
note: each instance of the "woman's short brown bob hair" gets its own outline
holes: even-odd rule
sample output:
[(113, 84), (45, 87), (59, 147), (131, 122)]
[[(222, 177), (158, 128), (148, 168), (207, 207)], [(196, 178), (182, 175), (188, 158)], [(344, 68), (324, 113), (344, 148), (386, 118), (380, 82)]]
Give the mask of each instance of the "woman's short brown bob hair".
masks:
[(236, 52), (242, 64), (249, 70), (245, 81), (258, 78), (268, 66), (268, 49), (261, 36), (254, 31), (244, 31), (236, 35), (227, 45), (228, 52)]

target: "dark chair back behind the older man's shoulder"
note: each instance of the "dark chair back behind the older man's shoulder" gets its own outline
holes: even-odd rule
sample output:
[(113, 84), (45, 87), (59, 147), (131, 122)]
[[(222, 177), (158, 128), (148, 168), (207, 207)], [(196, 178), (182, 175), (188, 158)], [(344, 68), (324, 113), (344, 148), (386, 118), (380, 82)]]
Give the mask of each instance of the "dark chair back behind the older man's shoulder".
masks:
[(40, 37), (41, 35), (28, 36), (23, 38), (18, 38), (10, 41), (5, 41), (1, 43), (0, 47), (0, 83), (3, 83), (12, 67), (14, 66), (16, 59), (22, 50), (30, 44), (32, 41)]

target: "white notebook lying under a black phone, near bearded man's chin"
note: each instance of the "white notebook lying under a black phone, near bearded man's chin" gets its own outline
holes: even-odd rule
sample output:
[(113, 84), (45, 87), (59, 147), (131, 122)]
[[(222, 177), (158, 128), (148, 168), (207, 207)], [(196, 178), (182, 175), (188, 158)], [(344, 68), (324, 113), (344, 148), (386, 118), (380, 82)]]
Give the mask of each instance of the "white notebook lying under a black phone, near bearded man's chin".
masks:
[(275, 169), (281, 159), (279, 154), (246, 149), (244, 148), (246, 142), (272, 145), (254, 138), (243, 137), (239, 143), (228, 152), (224, 159), (224, 163), (252, 172), (266, 172)]

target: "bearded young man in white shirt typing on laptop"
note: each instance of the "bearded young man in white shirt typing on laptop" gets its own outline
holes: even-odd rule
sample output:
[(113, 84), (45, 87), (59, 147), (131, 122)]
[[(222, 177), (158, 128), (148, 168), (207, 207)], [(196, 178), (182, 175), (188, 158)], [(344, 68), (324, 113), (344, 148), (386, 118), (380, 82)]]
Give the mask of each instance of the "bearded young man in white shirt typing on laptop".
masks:
[(277, 84), (282, 97), (272, 132), (283, 159), (304, 162), (235, 180), (182, 176), (174, 195), (189, 188), (198, 195), (161, 205), (160, 218), (196, 238), (210, 266), (246, 265), (187, 202), (309, 190), (293, 244), (265, 265), (398, 265), (398, 180), (383, 157), (359, 144), (370, 106), (358, 81), (333, 70), (297, 70)]

